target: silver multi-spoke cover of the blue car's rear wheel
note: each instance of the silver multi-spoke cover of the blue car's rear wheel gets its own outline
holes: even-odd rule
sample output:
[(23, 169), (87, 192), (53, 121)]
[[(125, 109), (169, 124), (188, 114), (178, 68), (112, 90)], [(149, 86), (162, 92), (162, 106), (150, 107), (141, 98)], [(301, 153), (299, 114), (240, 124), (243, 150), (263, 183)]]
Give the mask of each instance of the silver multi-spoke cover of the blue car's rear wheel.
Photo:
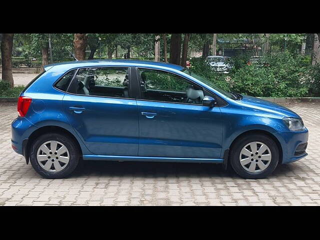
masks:
[(39, 146), (36, 159), (46, 171), (58, 172), (69, 162), (69, 151), (61, 142), (50, 140)]

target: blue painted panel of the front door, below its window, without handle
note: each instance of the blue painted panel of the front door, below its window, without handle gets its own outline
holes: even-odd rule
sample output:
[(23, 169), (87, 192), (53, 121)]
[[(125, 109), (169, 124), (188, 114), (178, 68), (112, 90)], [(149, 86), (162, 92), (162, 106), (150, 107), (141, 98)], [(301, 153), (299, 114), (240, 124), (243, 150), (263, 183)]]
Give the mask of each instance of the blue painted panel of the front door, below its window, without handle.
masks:
[[(137, 100), (139, 156), (219, 158), (219, 107)], [(141, 112), (154, 112), (148, 118)]]

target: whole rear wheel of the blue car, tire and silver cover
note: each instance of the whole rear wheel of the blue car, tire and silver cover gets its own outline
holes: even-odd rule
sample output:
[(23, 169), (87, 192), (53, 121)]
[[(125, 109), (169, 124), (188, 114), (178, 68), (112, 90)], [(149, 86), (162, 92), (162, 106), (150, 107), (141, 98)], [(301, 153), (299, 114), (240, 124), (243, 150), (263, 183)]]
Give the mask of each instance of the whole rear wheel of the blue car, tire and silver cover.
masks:
[[(56, 151), (51, 152), (52, 147)], [(45, 178), (64, 178), (78, 165), (79, 152), (78, 146), (69, 136), (46, 133), (31, 143), (30, 162), (34, 170)]]

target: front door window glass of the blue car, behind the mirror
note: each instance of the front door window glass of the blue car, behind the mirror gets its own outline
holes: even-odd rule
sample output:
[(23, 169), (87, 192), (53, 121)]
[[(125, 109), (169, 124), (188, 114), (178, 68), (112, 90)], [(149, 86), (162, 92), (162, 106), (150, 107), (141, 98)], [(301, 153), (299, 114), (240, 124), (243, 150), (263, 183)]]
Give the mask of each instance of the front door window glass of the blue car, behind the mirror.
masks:
[(203, 90), (176, 74), (139, 68), (142, 98), (146, 100), (201, 104)]

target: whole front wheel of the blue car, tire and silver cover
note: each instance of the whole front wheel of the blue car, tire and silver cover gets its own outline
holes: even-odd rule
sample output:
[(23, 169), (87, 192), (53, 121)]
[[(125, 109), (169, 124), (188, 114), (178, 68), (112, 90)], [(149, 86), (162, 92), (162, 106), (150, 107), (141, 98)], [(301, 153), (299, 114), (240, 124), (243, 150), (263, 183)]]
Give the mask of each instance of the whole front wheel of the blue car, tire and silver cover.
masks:
[(276, 143), (263, 134), (240, 137), (230, 151), (231, 166), (243, 178), (264, 178), (274, 171), (278, 162), (279, 149)]

